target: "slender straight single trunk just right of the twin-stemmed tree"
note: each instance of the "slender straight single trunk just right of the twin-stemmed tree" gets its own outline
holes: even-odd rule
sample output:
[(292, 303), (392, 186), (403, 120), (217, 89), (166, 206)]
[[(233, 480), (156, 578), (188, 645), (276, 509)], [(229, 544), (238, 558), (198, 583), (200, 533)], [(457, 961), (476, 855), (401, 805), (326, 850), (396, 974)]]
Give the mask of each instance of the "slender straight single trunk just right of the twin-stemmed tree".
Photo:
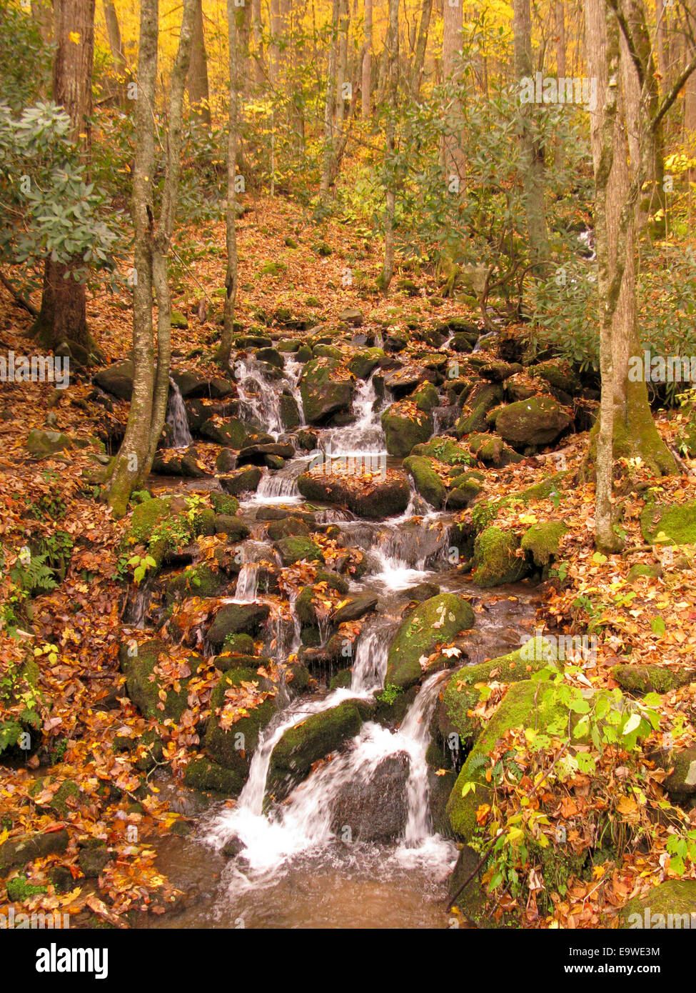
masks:
[(224, 368), (229, 366), (234, 334), (234, 303), (237, 293), (237, 242), (236, 242), (236, 161), (238, 147), (238, 56), (237, 31), (234, 20), (234, 0), (227, 0), (229, 38), (229, 120), (227, 133), (227, 204), (225, 212), (225, 240), (227, 246), (227, 272), (224, 280), (224, 324), (222, 340), (217, 351), (217, 361)]

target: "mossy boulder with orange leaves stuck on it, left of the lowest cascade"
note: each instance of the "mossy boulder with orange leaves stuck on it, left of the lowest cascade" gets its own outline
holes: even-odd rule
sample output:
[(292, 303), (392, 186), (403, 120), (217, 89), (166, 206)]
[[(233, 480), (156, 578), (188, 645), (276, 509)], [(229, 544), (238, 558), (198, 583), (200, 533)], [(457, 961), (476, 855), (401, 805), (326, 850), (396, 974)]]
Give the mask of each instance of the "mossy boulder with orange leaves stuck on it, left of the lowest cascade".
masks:
[(229, 689), (240, 687), (242, 683), (259, 683), (259, 681), (255, 669), (240, 666), (223, 672), (210, 694), (206, 751), (219, 766), (236, 773), (241, 780), (249, 774), (249, 766), (261, 731), (276, 712), (275, 700), (263, 700), (255, 707), (245, 705), (245, 715), (226, 729), (219, 725), (219, 713)]

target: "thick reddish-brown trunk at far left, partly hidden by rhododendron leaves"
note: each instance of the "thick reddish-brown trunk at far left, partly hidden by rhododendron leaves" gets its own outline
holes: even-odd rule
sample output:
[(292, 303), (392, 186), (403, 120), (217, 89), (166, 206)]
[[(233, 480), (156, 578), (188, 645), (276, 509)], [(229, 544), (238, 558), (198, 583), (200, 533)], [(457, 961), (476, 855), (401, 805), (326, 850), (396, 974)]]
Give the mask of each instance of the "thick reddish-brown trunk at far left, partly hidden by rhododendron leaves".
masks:
[[(54, 11), (56, 55), (54, 100), (70, 115), (72, 138), (89, 149), (91, 77), (94, 57), (94, 0), (57, 0)], [(75, 36), (78, 41), (74, 41)], [(96, 349), (87, 329), (84, 283), (72, 278), (80, 260), (64, 265), (47, 259), (41, 310), (31, 334), (46, 349), (63, 349), (80, 365)]]

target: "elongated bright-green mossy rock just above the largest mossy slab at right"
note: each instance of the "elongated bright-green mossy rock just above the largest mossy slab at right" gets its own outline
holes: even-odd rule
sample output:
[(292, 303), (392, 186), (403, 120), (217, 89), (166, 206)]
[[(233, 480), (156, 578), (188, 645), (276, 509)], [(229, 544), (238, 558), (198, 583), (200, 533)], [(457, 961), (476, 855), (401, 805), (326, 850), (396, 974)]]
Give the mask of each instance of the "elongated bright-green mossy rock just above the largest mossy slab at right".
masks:
[(492, 680), (502, 683), (529, 679), (532, 672), (552, 664), (556, 651), (545, 638), (530, 638), (516, 651), (500, 655), (478, 665), (465, 665), (453, 673), (443, 696), (443, 716), (440, 730), (446, 735), (450, 729), (458, 732), (465, 747), (471, 747), (481, 734), (481, 720), (472, 711), (481, 700), (478, 688)]

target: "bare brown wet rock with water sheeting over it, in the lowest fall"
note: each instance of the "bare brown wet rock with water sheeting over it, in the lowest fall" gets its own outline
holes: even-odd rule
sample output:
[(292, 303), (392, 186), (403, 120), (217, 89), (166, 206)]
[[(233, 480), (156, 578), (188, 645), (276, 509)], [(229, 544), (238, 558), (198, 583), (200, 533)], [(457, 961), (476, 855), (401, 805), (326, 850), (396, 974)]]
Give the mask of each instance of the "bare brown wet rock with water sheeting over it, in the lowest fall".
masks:
[(332, 831), (349, 841), (389, 841), (402, 834), (408, 767), (408, 754), (397, 752), (382, 759), (368, 779), (356, 776), (342, 786), (334, 802)]

